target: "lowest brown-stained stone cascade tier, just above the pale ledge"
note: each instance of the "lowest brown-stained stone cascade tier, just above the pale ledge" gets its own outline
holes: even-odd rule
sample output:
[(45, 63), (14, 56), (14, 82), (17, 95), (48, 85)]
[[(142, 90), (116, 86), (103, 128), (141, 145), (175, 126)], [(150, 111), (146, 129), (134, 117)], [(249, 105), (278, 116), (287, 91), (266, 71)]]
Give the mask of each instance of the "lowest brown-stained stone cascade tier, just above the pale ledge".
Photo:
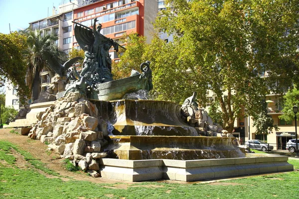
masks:
[(198, 160), (245, 157), (231, 137), (206, 136), (109, 136), (104, 151), (124, 160)]

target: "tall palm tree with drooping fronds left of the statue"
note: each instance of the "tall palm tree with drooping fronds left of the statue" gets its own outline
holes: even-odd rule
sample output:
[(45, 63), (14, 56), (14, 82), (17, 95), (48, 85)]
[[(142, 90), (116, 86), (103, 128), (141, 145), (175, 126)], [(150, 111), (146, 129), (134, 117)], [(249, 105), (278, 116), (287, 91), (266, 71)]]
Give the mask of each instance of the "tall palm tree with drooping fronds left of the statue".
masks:
[(62, 61), (62, 59), (65, 59), (64, 53), (54, 44), (58, 36), (55, 34), (41, 36), (40, 33), (40, 30), (23, 31), (23, 34), (27, 37), (28, 45), (28, 48), (24, 52), (27, 64), (26, 84), (31, 90), (32, 102), (38, 99), (40, 93), (40, 72), (44, 67), (51, 71), (51, 68), (47, 64), (46, 57), (53, 55), (57, 60)]

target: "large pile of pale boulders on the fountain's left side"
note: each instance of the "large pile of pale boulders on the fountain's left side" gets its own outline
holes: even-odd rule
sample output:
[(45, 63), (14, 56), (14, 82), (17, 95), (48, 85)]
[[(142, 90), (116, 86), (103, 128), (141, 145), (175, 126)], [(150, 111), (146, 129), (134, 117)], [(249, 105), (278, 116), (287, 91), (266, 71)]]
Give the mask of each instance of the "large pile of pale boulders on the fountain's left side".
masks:
[(70, 92), (37, 115), (28, 136), (48, 144), (49, 150), (71, 160), (82, 170), (99, 177), (98, 160), (106, 157), (101, 146), (108, 143), (107, 123), (98, 116), (96, 105), (84, 100), (79, 92)]

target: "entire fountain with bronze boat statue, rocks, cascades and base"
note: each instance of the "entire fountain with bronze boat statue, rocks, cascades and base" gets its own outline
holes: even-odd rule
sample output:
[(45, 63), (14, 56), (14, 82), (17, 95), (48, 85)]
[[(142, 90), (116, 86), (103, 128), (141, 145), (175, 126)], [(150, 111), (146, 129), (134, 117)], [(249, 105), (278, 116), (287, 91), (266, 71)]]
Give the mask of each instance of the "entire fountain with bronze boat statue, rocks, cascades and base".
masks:
[[(196, 93), (182, 106), (129, 100), (130, 93), (152, 89), (149, 62), (141, 64), (142, 73), (113, 81), (109, 49), (118, 50), (119, 45), (100, 33), (101, 26), (96, 30), (96, 21), (93, 29), (76, 23), (76, 40), (85, 49), (84, 67), (80, 74), (52, 67), (57, 74), (67, 74), (70, 84), (56, 95), (64, 96), (61, 101), (36, 116), (39, 121), (30, 137), (52, 143), (50, 147), (73, 158), (82, 170), (125, 181), (195, 181), (293, 170), (285, 156), (246, 157), (235, 137), (198, 109)], [(107, 129), (109, 134), (104, 133)]]

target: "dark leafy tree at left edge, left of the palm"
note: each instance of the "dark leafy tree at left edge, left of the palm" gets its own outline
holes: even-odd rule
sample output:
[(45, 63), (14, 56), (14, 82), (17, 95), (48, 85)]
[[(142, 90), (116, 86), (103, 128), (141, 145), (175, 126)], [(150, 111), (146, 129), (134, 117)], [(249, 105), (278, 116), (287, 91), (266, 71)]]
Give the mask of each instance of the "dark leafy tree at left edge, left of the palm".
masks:
[(26, 37), (17, 32), (10, 34), (0, 33), (0, 87), (5, 78), (18, 88), (21, 102), (29, 94), (25, 84), (26, 64), (22, 52), (26, 48)]

